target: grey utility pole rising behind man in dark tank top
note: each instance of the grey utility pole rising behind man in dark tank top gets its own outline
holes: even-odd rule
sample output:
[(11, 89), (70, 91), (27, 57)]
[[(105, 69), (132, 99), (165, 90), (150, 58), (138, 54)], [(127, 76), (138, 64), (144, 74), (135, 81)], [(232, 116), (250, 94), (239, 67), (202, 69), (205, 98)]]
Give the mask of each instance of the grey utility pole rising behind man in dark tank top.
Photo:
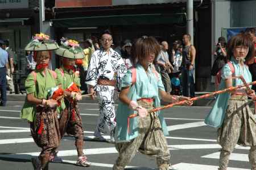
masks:
[(187, 0), (187, 33), (191, 35), (191, 44), (193, 44), (194, 43), (193, 0)]

